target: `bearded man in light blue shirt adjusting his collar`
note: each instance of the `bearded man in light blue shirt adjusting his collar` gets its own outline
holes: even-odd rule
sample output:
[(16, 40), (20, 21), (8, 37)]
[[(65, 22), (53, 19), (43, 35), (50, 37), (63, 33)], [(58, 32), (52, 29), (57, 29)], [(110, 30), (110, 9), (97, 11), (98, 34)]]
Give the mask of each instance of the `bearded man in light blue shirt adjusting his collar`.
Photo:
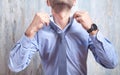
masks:
[(117, 58), (111, 43), (100, 33), (87, 12), (70, 12), (76, 0), (47, 0), (52, 16), (37, 13), (9, 57), (9, 68), (25, 69), (38, 51), (45, 75), (87, 75), (90, 49), (96, 61), (112, 69)]

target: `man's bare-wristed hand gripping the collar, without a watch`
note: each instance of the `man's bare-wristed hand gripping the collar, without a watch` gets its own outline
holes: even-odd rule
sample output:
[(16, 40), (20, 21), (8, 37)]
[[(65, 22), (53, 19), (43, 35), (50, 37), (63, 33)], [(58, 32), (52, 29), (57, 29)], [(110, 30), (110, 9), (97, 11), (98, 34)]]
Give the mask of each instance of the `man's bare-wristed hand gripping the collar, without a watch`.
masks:
[(37, 13), (30, 24), (30, 26), (27, 28), (25, 35), (29, 38), (34, 37), (36, 32), (43, 27), (43, 25), (49, 25), (49, 15), (46, 13)]

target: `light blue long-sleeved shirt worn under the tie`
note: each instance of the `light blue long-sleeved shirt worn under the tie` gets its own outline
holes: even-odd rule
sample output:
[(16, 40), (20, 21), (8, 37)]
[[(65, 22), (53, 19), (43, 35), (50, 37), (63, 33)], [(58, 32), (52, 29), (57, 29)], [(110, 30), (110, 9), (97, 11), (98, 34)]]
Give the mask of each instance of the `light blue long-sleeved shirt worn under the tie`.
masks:
[(96, 61), (106, 68), (114, 68), (117, 57), (113, 45), (101, 34), (89, 35), (87, 31), (73, 18), (68, 25), (61, 30), (50, 18), (49, 26), (39, 30), (34, 38), (23, 35), (12, 48), (9, 56), (9, 68), (19, 72), (30, 63), (35, 52), (39, 52), (41, 64), (45, 75), (58, 75), (58, 33), (65, 33), (68, 49), (67, 75), (87, 75), (87, 56), (90, 49)]

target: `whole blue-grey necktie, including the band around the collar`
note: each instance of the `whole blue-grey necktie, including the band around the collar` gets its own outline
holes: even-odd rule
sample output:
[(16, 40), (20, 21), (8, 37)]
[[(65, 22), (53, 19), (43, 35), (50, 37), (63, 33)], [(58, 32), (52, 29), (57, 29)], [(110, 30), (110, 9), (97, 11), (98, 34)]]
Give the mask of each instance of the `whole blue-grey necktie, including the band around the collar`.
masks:
[[(73, 23), (73, 19), (71, 18), (71, 25)], [(71, 26), (70, 25), (70, 26)], [(66, 29), (66, 31), (70, 28), (70, 26)], [(65, 32), (59, 33), (57, 31), (58, 27), (54, 25), (54, 23), (50, 20), (50, 27), (53, 29), (53, 31), (58, 34), (58, 39), (57, 43), (59, 44), (58, 49), (58, 75), (67, 75), (67, 55), (66, 55), (66, 50), (67, 50), (67, 42), (65, 40)]]

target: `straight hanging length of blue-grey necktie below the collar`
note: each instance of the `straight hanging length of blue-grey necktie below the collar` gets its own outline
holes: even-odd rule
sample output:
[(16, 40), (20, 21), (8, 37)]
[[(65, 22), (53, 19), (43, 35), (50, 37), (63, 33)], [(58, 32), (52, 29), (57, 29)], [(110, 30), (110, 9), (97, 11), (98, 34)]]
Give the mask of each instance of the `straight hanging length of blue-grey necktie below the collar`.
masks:
[(58, 75), (67, 75), (67, 63), (66, 63), (66, 40), (65, 40), (65, 33), (58, 34), (58, 41), (59, 41), (59, 53), (58, 53), (58, 63), (59, 63), (59, 70)]

